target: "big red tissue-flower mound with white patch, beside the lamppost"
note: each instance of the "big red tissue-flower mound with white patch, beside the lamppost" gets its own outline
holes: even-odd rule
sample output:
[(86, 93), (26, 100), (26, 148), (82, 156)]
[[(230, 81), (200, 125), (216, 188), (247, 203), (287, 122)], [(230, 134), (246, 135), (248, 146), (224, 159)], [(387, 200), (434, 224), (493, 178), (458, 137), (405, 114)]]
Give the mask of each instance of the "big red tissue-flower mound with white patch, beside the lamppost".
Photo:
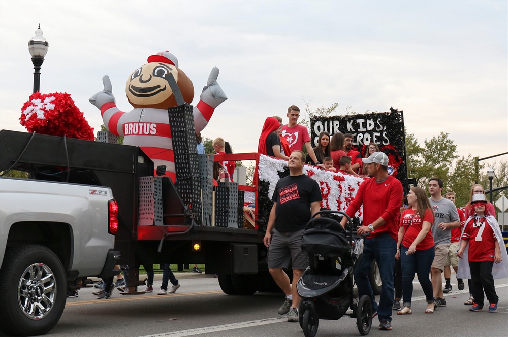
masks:
[(94, 140), (93, 128), (67, 92), (31, 94), (21, 108), (19, 120), (28, 132)]

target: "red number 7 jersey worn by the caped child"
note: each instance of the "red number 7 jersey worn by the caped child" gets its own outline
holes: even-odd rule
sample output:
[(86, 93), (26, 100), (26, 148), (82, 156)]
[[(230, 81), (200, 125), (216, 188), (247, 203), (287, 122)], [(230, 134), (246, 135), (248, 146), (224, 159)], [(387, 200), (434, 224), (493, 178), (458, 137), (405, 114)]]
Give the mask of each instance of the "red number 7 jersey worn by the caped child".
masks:
[(492, 261), (497, 241), (496, 234), (487, 223), (485, 217), (469, 220), (462, 234), (462, 239), (468, 240), (469, 250), (467, 260), (469, 262)]

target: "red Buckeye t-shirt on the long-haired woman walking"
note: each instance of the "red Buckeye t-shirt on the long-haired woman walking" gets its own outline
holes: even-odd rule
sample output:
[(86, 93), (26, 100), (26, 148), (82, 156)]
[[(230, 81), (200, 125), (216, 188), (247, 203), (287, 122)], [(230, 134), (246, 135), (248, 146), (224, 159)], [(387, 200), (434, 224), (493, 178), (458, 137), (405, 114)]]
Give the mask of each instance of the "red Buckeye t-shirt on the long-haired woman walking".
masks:
[[(402, 240), (402, 245), (406, 248), (409, 248), (412, 245), (423, 227), (420, 214), (416, 212), (416, 210), (408, 208), (400, 217), (400, 226), (404, 227), (404, 239)], [(432, 210), (430, 208), (425, 211), (423, 221), (430, 222), (432, 226), (432, 223), (434, 222), (434, 214), (432, 214)], [(429, 230), (427, 235), (425, 235), (425, 238), (423, 238), (423, 240), (416, 246), (416, 250), (425, 250), (432, 247), (434, 247), (434, 238), (432, 237), (432, 232)]]

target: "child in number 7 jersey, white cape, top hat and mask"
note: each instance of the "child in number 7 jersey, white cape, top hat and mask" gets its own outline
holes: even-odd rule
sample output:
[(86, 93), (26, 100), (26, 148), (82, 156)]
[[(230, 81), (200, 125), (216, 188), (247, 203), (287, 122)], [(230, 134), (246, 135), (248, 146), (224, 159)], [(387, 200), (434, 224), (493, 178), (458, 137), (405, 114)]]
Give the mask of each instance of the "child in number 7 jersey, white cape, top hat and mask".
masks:
[[(471, 274), (473, 306), (470, 311), (482, 311), (484, 291), (490, 302), (489, 312), (497, 310), (499, 297), (494, 286), (494, 277), (508, 276), (508, 254), (501, 250), (499, 241), (502, 240), (499, 224), (487, 210), (487, 200), (484, 194), (475, 194), (472, 197), (469, 218), (462, 232), (460, 248), (457, 256), (467, 258)], [(469, 246), (468, 251), (466, 247)], [(493, 275), (494, 263), (504, 262)], [(459, 273), (462, 273), (459, 265)], [(462, 276), (462, 275), (461, 275)]]

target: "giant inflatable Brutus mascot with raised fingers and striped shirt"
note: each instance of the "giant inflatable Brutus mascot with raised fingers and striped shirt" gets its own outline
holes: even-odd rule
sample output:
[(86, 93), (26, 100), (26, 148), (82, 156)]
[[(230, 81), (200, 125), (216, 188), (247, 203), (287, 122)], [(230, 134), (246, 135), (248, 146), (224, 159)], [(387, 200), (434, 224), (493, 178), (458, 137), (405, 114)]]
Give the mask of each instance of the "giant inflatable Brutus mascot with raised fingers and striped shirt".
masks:
[[(101, 110), (104, 126), (116, 136), (123, 136), (123, 144), (139, 146), (153, 161), (154, 168), (166, 165), (166, 175), (175, 180), (175, 164), (168, 108), (176, 107), (176, 99), (166, 77), (172, 74), (185, 102), (192, 102), (194, 87), (185, 73), (178, 68), (178, 59), (168, 51), (148, 57), (148, 63), (136, 69), (127, 79), (125, 92), (134, 107), (130, 112), (120, 111), (112, 94), (111, 81), (102, 78), (104, 90), (90, 98), (90, 103)], [(228, 97), (217, 83), (219, 69), (214, 67), (206, 86), (194, 107), (196, 133), (208, 124), (215, 108)]]

